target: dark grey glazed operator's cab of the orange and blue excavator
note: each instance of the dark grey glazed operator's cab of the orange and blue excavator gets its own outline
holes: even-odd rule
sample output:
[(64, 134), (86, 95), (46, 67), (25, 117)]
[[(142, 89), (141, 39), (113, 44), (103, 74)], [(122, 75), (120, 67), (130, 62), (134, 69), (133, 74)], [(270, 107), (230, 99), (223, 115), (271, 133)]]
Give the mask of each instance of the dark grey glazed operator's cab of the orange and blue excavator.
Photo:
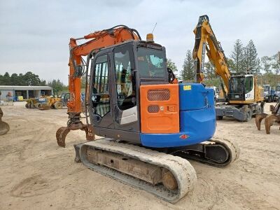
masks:
[(144, 41), (105, 48), (94, 55), (90, 78), (95, 134), (140, 143), (140, 86), (169, 84), (165, 48)]

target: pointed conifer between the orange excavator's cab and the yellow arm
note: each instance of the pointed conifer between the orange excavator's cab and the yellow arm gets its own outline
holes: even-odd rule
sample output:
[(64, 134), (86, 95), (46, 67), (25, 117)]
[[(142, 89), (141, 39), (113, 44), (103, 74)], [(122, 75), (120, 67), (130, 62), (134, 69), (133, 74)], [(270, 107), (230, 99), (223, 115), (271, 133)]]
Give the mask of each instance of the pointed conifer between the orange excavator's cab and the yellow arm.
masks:
[(181, 78), (183, 81), (195, 80), (195, 63), (190, 50), (187, 50), (186, 52), (186, 57), (183, 62), (183, 71), (181, 71)]

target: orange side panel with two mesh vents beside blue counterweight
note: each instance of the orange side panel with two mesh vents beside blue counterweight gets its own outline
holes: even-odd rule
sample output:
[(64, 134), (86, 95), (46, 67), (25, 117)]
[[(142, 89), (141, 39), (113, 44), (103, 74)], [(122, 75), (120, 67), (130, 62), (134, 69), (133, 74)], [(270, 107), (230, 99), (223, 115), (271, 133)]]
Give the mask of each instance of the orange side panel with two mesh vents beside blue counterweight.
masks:
[(179, 85), (140, 86), (141, 133), (178, 133)]

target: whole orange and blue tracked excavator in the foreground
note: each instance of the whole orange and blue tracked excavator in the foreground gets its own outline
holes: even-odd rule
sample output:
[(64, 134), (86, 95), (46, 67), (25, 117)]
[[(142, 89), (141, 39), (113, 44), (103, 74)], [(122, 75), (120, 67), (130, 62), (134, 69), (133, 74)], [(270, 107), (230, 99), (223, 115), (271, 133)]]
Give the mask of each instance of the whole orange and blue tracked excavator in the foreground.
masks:
[[(80, 39), (90, 41), (77, 45)], [(76, 162), (174, 203), (197, 181), (188, 159), (214, 167), (237, 160), (236, 144), (212, 138), (213, 90), (178, 83), (153, 34), (142, 41), (135, 29), (118, 25), (69, 45), (69, 121), (57, 130), (57, 144), (65, 147), (70, 130), (85, 130), (89, 141), (74, 145)], [(80, 78), (87, 75), (85, 124)], [(91, 141), (94, 134), (104, 138)]]

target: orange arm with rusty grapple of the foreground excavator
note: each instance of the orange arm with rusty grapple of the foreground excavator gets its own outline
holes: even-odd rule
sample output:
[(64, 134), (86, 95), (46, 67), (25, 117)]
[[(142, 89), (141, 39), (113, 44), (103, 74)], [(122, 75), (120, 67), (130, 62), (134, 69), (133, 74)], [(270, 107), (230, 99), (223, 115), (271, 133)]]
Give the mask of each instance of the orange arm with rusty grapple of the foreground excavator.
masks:
[[(78, 40), (89, 40), (83, 44), (78, 45)], [(80, 113), (82, 112), (82, 103), (80, 99), (81, 83), (80, 78), (87, 76), (87, 69), (89, 66), (89, 57), (92, 52), (97, 52), (102, 48), (109, 47), (128, 40), (141, 40), (141, 36), (135, 29), (130, 29), (125, 25), (118, 25), (110, 29), (102, 31), (94, 31), (92, 34), (87, 34), (81, 38), (70, 38), (69, 49), (69, 92), (70, 100), (67, 103), (67, 113), (69, 120), (67, 127), (60, 127), (57, 130), (57, 144), (65, 147), (65, 138), (70, 130), (85, 130), (88, 141), (94, 140), (93, 128), (88, 123), (85, 125), (80, 120)], [(87, 56), (87, 61), (83, 59)], [(86, 93), (87, 95), (87, 93)], [(87, 118), (87, 116), (86, 116)]]

